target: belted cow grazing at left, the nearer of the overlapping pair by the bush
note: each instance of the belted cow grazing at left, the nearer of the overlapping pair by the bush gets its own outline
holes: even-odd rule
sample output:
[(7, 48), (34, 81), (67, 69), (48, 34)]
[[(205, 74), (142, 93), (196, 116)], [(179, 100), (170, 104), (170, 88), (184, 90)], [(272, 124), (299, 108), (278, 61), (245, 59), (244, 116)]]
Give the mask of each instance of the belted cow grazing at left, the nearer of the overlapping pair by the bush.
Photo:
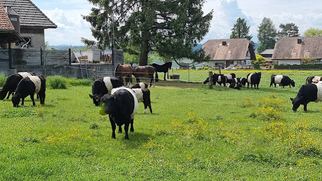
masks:
[(24, 98), (30, 95), (32, 105), (36, 105), (34, 94), (39, 95), (40, 104), (45, 104), (46, 79), (43, 75), (28, 76), (20, 80), (15, 93), (12, 93), (11, 102), (13, 107), (18, 107), (21, 99), (21, 106), (24, 105)]

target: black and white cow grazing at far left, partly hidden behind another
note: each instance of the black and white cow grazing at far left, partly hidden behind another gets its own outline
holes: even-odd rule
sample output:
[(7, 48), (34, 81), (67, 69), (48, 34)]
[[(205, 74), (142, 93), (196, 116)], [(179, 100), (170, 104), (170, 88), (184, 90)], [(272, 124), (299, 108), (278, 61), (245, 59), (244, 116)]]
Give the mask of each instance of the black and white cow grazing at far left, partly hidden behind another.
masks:
[(8, 97), (6, 99), (9, 99), (12, 92), (15, 91), (15, 89), (18, 86), (18, 83), (21, 79), (26, 78), (28, 76), (35, 75), (34, 72), (18, 72), (14, 73), (8, 76), (8, 78), (5, 80), (5, 83), (0, 89), (0, 100), (3, 100), (8, 93)]

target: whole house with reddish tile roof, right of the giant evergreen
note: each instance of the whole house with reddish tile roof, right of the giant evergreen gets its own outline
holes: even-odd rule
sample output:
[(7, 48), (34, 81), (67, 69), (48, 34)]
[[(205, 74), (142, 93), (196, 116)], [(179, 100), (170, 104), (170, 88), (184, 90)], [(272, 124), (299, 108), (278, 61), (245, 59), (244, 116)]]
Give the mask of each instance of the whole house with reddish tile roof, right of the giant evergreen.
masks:
[(245, 66), (256, 60), (252, 42), (246, 38), (208, 40), (202, 48), (210, 56), (210, 66)]

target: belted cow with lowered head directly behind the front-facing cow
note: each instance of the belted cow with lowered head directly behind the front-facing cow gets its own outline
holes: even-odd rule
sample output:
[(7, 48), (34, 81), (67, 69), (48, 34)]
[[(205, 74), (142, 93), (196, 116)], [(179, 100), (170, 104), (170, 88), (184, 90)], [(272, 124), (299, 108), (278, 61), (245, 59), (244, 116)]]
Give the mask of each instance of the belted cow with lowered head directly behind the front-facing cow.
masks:
[(111, 94), (113, 88), (123, 86), (123, 77), (103, 77), (95, 80), (92, 85), (92, 94), (89, 97), (93, 99), (95, 106), (100, 105), (100, 99), (104, 94)]

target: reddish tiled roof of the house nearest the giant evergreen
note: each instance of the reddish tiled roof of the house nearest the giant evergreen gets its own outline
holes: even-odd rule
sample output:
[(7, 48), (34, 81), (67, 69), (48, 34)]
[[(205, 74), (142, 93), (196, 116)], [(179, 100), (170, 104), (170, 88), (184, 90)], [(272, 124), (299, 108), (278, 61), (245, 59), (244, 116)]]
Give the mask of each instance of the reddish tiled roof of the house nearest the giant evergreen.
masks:
[[(222, 45), (223, 42), (226, 45)], [(245, 60), (249, 44), (251, 42), (246, 38), (217, 39), (208, 40), (202, 48), (210, 60)]]

